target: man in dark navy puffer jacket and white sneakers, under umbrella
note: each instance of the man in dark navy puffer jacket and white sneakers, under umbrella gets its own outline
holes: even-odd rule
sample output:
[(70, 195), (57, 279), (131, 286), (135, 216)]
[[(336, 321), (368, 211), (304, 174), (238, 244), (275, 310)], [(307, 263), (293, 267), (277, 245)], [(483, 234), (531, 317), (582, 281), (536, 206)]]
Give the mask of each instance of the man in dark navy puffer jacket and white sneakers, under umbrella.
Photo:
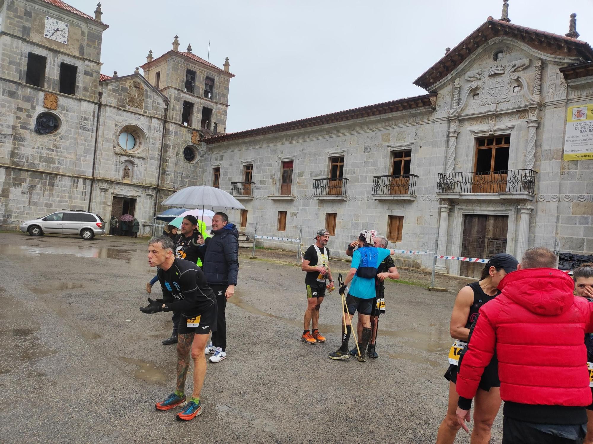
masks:
[[(227, 320), (224, 310), (227, 299), (235, 293), (239, 272), (239, 233), (234, 224), (228, 223), (225, 213), (216, 213), (212, 218), (212, 237), (200, 250), (203, 272), (208, 285), (216, 295), (218, 325), (212, 333), (212, 342), (205, 354), (212, 354), (209, 361), (220, 362), (227, 357)], [(205, 251), (204, 251), (205, 250)]]

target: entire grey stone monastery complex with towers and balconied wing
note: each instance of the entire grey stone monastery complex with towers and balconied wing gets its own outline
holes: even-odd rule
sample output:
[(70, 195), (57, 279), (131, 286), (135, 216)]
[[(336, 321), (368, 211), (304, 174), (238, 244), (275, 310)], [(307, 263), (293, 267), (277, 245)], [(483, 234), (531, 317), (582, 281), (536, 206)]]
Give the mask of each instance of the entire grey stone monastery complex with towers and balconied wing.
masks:
[(166, 196), (210, 185), (243, 203), (229, 215), (244, 230), (297, 238), (302, 226), (307, 245), (325, 226), (333, 255), (363, 228), (439, 255), (593, 252), (593, 142), (584, 154), (565, 144), (567, 115), (581, 128), (593, 119), (593, 49), (574, 14), (553, 34), (511, 23), (504, 0), (500, 20), (414, 81), (422, 96), (234, 133), (228, 59), (218, 68), (180, 52), (176, 36), (164, 55), (149, 52), (144, 75), (100, 74), (101, 14), (0, 1), (2, 229), (78, 208), (132, 214), (148, 233)]

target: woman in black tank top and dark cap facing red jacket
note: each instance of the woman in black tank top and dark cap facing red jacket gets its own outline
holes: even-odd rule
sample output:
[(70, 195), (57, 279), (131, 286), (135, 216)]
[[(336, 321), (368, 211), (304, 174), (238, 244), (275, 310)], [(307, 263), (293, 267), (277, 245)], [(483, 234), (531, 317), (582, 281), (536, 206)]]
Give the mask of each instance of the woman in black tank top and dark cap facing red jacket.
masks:
[[(476, 324), (480, 307), (494, 299), (500, 291), (496, 289), (502, 278), (517, 269), (517, 259), (500, 253), (492, 256), (484, 265), (482, 277), (478, 282), (467, 284), (461, 288), (455, 298), (451, 314), (451, 337), (455, 340), (449, 352), (449, 368), (445, 378), (449, 380), (449, 401), (447, 416), (442, 421), (436, 436), (437, 444), (452, 444), (460, 424), (455, 415), (459, 395), (455, 391), (457, 369), (460, 352), (465, 348), (471, 336), (471, 328)], [(463, 356), (463, 353), (461, 353)], [(489, 442), (490, 428), (500, 408), (500, 381), (498, 379), (498, 360), (496, 354), (484, 369), (482, 380), (475, 398), (474, 427), (471, 431), (471, 442)]]

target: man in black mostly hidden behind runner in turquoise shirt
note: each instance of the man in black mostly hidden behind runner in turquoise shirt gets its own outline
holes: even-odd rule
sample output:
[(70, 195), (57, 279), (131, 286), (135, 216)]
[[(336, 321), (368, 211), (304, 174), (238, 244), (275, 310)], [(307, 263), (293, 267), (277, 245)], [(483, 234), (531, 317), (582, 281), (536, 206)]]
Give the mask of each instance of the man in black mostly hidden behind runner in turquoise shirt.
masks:
[[(350, 243), (346, 249), (346, 255), (352, 256), (352, 252), (355, 247), (359, 245), (358, 240)], [(375, 236), (373, 245), (377, 248), (387, 248), (388, 240), (384, 236)], [(393, 262), (391, 256), (383, 259), (379, 267), (377, 268), (377, 276), (375, 277), (375, 299), (372, 305), (371, 311), (371, 339), (368, 345), (368, 354), (372, 359), (377, 359), (379, 356), (375, 351), (375, 341), (377, 341), (377, 328), (379, 326), (379, 315), (385, 313), (385, 279), (399, 279), (400, 273), (397, 271), (396, 264)], [(356, 325), (356, 334), (358, 337), (362, 337), (362, 323), (359, 320)], [(361, 344), (359, 343), (359, 347)], [(356, 356), (356, 347), (350, 350), (352, 356)]]

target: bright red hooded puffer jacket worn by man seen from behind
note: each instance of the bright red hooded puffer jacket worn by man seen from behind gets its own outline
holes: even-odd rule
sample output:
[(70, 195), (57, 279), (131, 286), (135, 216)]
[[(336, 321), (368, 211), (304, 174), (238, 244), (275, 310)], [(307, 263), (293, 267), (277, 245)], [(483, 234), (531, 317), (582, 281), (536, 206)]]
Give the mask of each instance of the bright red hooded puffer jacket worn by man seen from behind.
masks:
[(585, 332), (593, 304), (573, 296), (574, 284), (554, 268), (519, 269), (480, 316), (457, 375), (457, 393), (476, 395), (496, 347), (500, 397), (522, 404), (591, 404)]

